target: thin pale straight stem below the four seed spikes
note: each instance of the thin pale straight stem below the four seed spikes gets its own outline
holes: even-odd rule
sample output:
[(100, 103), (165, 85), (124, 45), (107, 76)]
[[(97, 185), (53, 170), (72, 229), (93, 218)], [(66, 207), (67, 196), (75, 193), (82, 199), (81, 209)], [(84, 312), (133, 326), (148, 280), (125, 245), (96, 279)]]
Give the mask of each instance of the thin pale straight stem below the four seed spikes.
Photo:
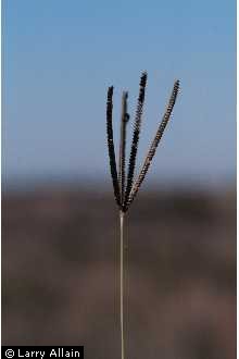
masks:
[(125, 359), (125, 337), (124, 337), (124, 212), (120, 212), (121, 221), (121, 344), (122, 359)]

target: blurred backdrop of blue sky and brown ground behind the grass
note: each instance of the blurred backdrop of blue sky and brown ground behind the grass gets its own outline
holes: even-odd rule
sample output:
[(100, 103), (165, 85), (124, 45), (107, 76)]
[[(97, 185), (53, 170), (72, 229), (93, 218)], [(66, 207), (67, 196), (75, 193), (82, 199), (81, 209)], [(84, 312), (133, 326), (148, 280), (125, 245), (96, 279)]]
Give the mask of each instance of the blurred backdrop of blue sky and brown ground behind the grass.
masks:
[(3, 0), (2, 61), (2, 345), (121, 357), (105, 96), (117, 146), (147, 70), (138, 168), (181, 90), (127, 216), (127, 357), (236, 358), (236, 2)]

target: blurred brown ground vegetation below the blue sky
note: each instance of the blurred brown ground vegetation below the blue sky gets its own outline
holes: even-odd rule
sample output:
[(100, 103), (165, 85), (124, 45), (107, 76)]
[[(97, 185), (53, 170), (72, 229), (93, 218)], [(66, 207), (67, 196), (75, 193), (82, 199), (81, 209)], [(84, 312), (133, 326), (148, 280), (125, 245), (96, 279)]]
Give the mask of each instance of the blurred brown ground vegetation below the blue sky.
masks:
[[(236, 358), (236, 196), (142, 193), (127, 219), (127, 358)], [(101, 189), (3, 195), (2, 345), (120, 358), (118, 218)]]

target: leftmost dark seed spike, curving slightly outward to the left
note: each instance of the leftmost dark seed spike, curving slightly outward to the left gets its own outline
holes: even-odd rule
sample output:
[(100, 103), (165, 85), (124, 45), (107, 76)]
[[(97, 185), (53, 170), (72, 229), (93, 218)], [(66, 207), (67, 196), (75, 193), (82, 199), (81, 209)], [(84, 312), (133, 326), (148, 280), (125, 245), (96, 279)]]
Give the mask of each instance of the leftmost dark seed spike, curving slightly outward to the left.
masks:
[(117, 180), (117, 168), (115, 161), (115, 151), (114, 151), (114, 138), (113, 138), (113, 125), (112, 125), (112, 112), (113, 112), (113, 91), (114, 87), (111, 86), (108, 89), (108, 103), (106, 103), (106, 135), (108, 135), (108, 149), (109, 149), (109, 159), (111, 168), (111, 176), (114, 188), (115, 201), (121, 209), (121, 194)]

